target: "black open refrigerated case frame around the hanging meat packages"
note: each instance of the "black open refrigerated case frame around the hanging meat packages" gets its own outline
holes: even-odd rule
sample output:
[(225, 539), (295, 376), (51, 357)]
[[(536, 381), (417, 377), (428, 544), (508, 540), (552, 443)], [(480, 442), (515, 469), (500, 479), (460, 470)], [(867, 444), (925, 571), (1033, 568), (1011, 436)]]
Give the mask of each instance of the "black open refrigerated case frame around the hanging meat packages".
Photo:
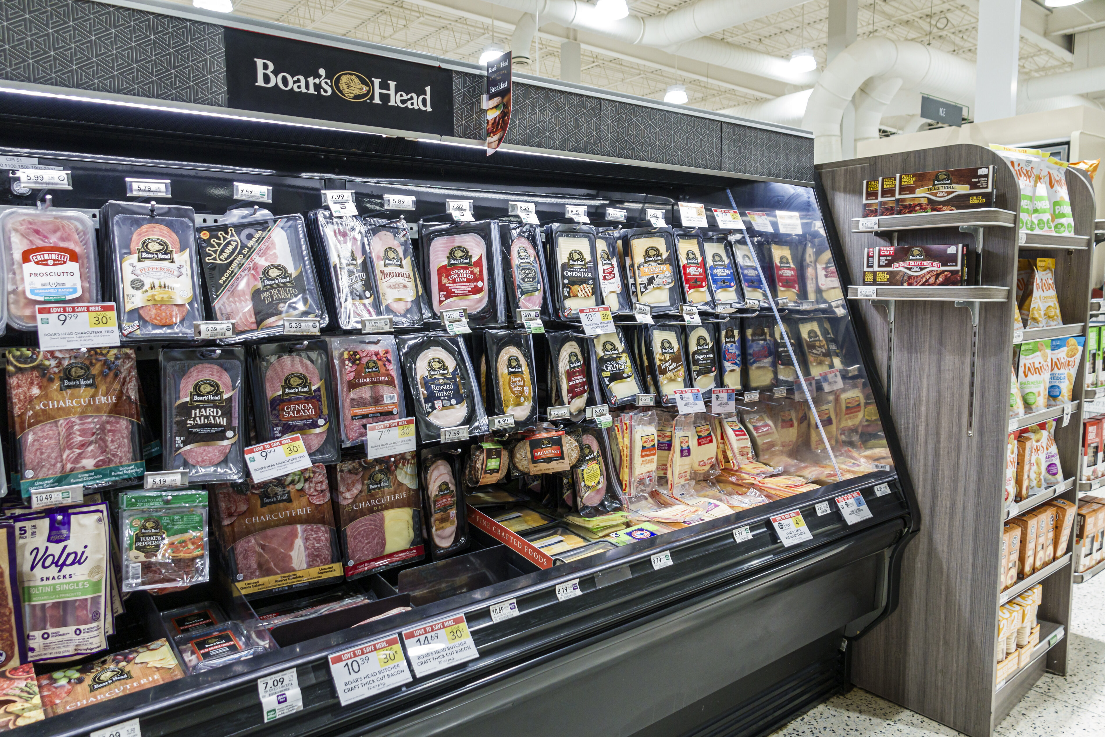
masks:
[[(234, 208), (245, 210), (245, 217), (257, 212), (253, 208), (274, 215), (304, 214), (323, 206), (322, 190), (351, 190), (362, 215), (404, 219), (411, 224), (413, 255), (417, 265), (424, 269), (422, 229), (413, 225), (420, 221), (423, 225), (452, 222), (441, 214), (450, 209), (446, 199), (469, 200), (477, 221), (505, 224), (518, 220), (507, 217), (511, 201), (535, 201), (543, 223), (570, 222), (564, 218), (565, 206), (585, 204), (592, 224), (634, 232), (652, 229), (646, 235), (669, 233), (672, 243), (682, 243), (681, 232), (687, 236), (671, 229), (681, 222), (677, 203), (704, 203), (711, 225), (697, 234), (723, 243), (723, 252), (728, 249), (734, 254), (728, 276), (732, 283), (725, 281), (723, 269), (714, 274), (722, 278), (720, 285), (712, 284), (709, 294), (730, 288), (734, 298), (727, 304), (715, 299), (712, 308), (699, 312), (699, 318), (716, 331), (718, 341), (724, 339), (726, 325), (735, 331), (737, 354), (728, 358), (739, 364), (733, 382), (723, 383), (723, 371), (718, 371), (716, 383), (707, 386), (707, 409), (713, 387), (737, 390), (735, 408), (720, 420), (711, 421), (724, 422), (724, 417), (729, 417), (739, 420), (739, 427), (751, 428), (756, 418), (762, 417), (778, 430), (780, 408), (789, 408), (802, 413), (807, 428), (806, 445), (792, 448), (787, 461), (793, 462), (788, 467), (798, 478), (793, 482), (797, 491), (761, 497), (762, 503), (713, 518), (659, 523), (651, 529), (648, 525), (634, 527), (642, 539), (618, 540), (619, 545), (604, 545), (609, 548), (604, 551), (567, 562), (535, 555), (538, 548), (518, 543), (518, 536), (505, 526), (490, 523), (488, 514), (493, 513), (470, 506), (466, 549), (442, 554), (438, 560), (427, 554), (345, 583), (365, 597), (350, 610), (273, 628), (269, 631), (273, 642), (252, 657), (197, 670), (170, 683), (98, 703), (90, 698), (87, 705), (22, 729), (29, 734), (87, 735), (138, 719), (147, 737), (475, 735), (488, 730), (551, 736), (565, 729), (620, 735), (758, 735), (846, 684), (849, 641), (862, 636), (894, 609), (899, 557), (919, 519), (888, 408), (878, 379), (869, 370), (869, 349), (862, 333), (852, 327), (851, 307), (839, 294), (833, 262), (840, 254), (831, 251), (824, 236), (811, 190), (723, 172), (665, 171), (509, 150), (486, 159), (478, 148), (397, 138), (357, 138), (354, 145), (344, 134), (334, 134), (307, 146), (278, 140), (285, 134), (273, 135), (271, 127), (263, 125), (181, 123), (168, 114), (149, 112), (128, 113), (137, 119), (124, 120), (103, 112), (90, 116), (80, 102), (21, 99), (20, 104), (24, 107), (18, 115), (7, 116), (8, 148), (2, 152), (33, 157), (40, 165), (69, 171), (72, 189), (20, 193), (18, 187), (9, 187), (0, 194), (6, 209), (34, 207), (44, 202), (48, 193), (52, 208), (90, 215), (109, 200), (129, 199), (154, 208), (148, 197), (127, 198), (125, 180), (170, 180), (171, 197), (152, 200), (158, 206), (165, 200), (191, 207), (198, 227), (214, 228)], [(25, 116), (52, 123), (41, 125)], [(124, 139), (120, 136), (129, 125), (144, 130)], [(218, 164), (204, 164), (211, 161)], [(235, 182), (271, 188), (271, 202), (245, 201)], [(385, 194), (411, 197), (414, 209), (389, 211)], [(646, 218), (645, 206), (662, 210), (665, 224)], [(629, 222), (603, 221), (607, 207), (627, 210)], [(715, 208), (737, 212), (736, 220), (729, 220), (728, 228), (718, 228)], [(103, 244), (105, 224), (98, 228)], [(630, 252), (628, 244), (625, 252)], [(105, 253), (104, 246), (101, 253)], [(330, 265), (317, 250), (313, 259), (315, 275), (322, 282), (319, 291), (333, 305), (335, 295), (327, 293), (333, 285), (326, 281)], [(676, 266), (680, 262), (671, 263), (677, 276), (672, 289), (677, 292), (685, 272)], [(636, 265), (631, 257), (618, 264), (625, 266), (620, 271), (623, 285), (636, 287)], [(546, 285), (556, 283), (549, 278)], [(703, 283), (694, 284), (701, 288)], [(753, 294), (766, 298), (749, 296)], [(675, 296), (671, 302), (676, 305), (674, 310), (652, 310), (655, 327), (690, 333), (692, 326), (684, 324), (677, 307), (687, 303), (687, 297)], [(593, 343), (578, 322), (560, 319), (551, 295), (540, 310), (545, 330), (567, 331), (581, 344)], [(518, 316), (506, 309), (503, 313), (496, 327), (515, 325)], [(615, 310), (613, 323), (625, 336), (624, 349), (633, 355), (631, 365), (636, 368), (640, 394), (652, 393), (661, 404), (662, 392), (650, 387), (656, 361), (648, 356), (651, 348), (644, 345), (648, 326), (624, 309)], [(421, 326), (403, 327), (397, 320), (393, 329), (402, 339), (441, 333), (442, 326), (436, 315), (430, 315)], [(473, 318), (472, 330), (460, 339), (476, 355), (485, 328)], [(322, 334), (359, 335), (360, 330), (344, 329), (330, 312)], [(276, 335), (269, 343), (282, 338)], [(540, 333), (532, 338), (545, 340)], [(253, 356), (251, 351), (263, 341), (244, 343)], [(33, 333), (10, 328), (3, 344), (9, 348), (38, 345)], [(135, 344), (138, 376), (147, 398), (160, 397), (166, 389), (158, 378), (159, 351), (187, 345), (172, 340)], [(213, 341), (202, 345), (215, 346)], [(684, 345), (687, 352), (695, 350), (695, 344)], [(547, 385), (557, 377), (552, 373), (549, 378), (541, 356), (545, 354), (538, 350), (530, 360), (537, 377), (534, 401), (545, 421), (547, 407), (543, 402), (551, 391)], [(726, 355), (722, 346), (713, 356), (723, 367)], [(591, 364), (598, 365), (598, 360)], [(688, 372), (693, 366), (688, 356)], [(670, 373), (655, 375), (656, 381), (671, 378)], [(694, 385), (687, 379), (683, 386)], [(597, 380), (589, 389), (592, 398), (609, 396)], [(409, 387), (406, 391), (407, 414), (415, 417), (411, 408), (417, 397)], [(854, 422), (844, 421), (851, 409), (842, 391), (851, 391), (865, 408)], [(588, 403), (602, 402), (591, 399)], [(166, 421), (160, 404), (146, 404), (146, 420), (157, 436)], [(617, 415), (642, 409), (651, 408), (631, 400), (609, 411)], [(255, 414), (256, 410), (246, 413)], [(610, 433), (601, 428), (601, 410), (587, 414), (579, 427)], [(256, 417), (252, 427), (256, 430)], [(444, 443), (420, 436), (419, 452), (440, 449), (465, 459), (477, 434), (486, 438), (490, 433), (473, 432), (471, 440)], [(506, 435), (496, 433), (499, 439)], [(615, 435), (609, 438), (617, 442)], [(759, 460), (786, 460), (771, 456), (774, 441), (761, 446), (762, 438), (754, 440)], [(15, 449), (7, 436), (4, 445), (8, 467), (19, 468)], [(864, 457), (863, 452), (873, 454)], [(343, 461), (364, 455), (361, 442), (341, 451)], [(148, 453), (145, 463), (147, 471), (161, 468), (156, 452)], [(821, 470), (814, 474), (817, 483), (801, 483), (808, 481), (801, 473), (814, 466)], [(782, 471), (776, 467), (774, 473)], [(663, 495), (663, 489), (659, 491)], [(116, 494), (116, 489), (104, 492), (109, 499)], [(212, 492), (212, 526), (219, 518), (215, 494)], [(18, 480), (13, 478), (8, 501), (18, 495)], [(644, 515), (634, 522), (662, 518), (660, 507), (650, 498), (648, 491), (634, 495), (633, 488), (624, 489), (622, 502), (634, 514), (640, 510)], [(323, 586), (287, 591), (261, 601), (243, 596), (232, 580), (233, 569), (225, 555), (218, 546), (213, 548), (209, 581), (160, 594), (147, 590), (129, 593), (126, 612), (116, 618), (116, 632), (101, 655), (160, 638), (171, 641), (162, 614), (178, 607), (215, 602), (230, 620), (255, 622), (262, 608), (278, 609), (283, 602), (327, 590)], [(330, 588), (340, 585), (341, 578), (335, 581)], [(397, 608), (399, 613), (372, 619)], [(410, 640), (418, 634), (411, 633), (441, 631), (442, 623), (445, 630), (464, 624), (470, 638), (454, 631), (459, 639), (469, 641), (465, 650), (455, 655), (454, 664), (435, 671), (423, 665), (420, 667), (432, 672), (419, 675), (410, 651)], [(404, 640), (408, 635), (411, 638)], [(396, 647), (399, 640), (407, 645)], [(356, 686), (343, 681), (348, 693), (339, 694), (336, 668), (344, 662), (340, 655), (367, 645), (391, 647), (389, 652), (409, 676), (361, 698), (357, 698)], [(40, 675), (50, 667), (40, 665)], [(271, 705), (263, 706), (259, 681), (287, 678), (290, 668), (295, 670), (295, 697), (302, 698), (303, 707), (266, 717)]]

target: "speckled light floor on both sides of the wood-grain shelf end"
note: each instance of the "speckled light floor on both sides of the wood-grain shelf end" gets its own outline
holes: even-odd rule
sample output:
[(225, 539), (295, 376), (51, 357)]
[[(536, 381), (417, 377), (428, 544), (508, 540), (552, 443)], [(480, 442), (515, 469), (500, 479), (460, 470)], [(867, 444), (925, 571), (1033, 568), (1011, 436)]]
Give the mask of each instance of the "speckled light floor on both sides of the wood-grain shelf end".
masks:
[[(998, 726), (1003, 737), (1105, 735), (1105, 575), (1074, 587), (1065, 677), (1044, 674)], [(960, 733), (862, 688), (830, 698), (771, 737), (956, 737)]]

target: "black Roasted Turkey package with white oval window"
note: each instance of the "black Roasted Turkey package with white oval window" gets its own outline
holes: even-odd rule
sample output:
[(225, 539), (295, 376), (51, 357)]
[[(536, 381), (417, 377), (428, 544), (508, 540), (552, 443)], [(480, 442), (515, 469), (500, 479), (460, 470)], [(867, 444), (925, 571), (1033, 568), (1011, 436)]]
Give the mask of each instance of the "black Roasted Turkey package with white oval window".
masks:
[(440, 440), (443, 428), (465, 425), (487, 432), (487, 414), (464, 340), (444, 333), (398, 336), (399, 355), (423, 441)]

